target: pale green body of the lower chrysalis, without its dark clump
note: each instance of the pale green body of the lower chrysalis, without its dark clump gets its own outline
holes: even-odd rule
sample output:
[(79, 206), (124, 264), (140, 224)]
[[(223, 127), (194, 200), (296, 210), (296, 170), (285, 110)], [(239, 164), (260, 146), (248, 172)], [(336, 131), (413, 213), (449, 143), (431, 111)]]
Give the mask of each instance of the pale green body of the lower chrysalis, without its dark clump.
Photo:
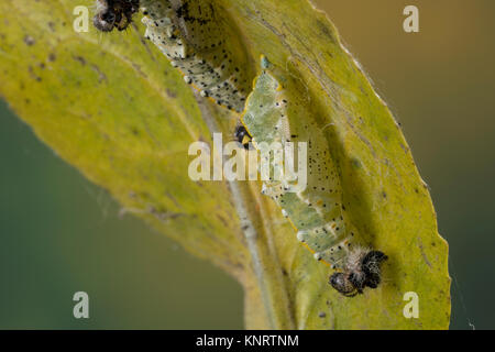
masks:
[(266, 59), (262, 62), (264, 70), (255, 80), (242, 118), (254, 146), (263, 155), (263, 148), (272, 143), (306, 142), (308, 151), (306, 189), (294, 193), (293, 182), (268, 180), (263, 194), (277, 202), (297, 229), (298, 240), (315, 252), (317, 260), (343, 267), (354, 234), (346, 227), (339, 174), (327, 140), (311, 120), (302, 91), (284, 88), (297, 87), (294, 78)]

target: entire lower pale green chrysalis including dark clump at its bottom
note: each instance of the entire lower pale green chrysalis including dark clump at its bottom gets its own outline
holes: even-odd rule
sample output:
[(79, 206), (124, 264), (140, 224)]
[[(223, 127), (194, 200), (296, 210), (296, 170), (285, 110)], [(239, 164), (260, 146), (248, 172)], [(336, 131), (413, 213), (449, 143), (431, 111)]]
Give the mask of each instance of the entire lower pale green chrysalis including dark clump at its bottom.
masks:
[[(353, 297), (365, 287), (378, 287), (381, 264), (387, 256), (380, 251), (362, 246), (346, 220), (342, 187), (327, 140), (312, 120), (309, 100), (301, 94), (300, 82), (274, 65), (261, 59), (262, 73), (254, 81), (241, 118), (252, 136), (253, 145), (268, 161), (270, 178), (262, 193), (272, 197), (282, 213), (290, 220), (297, 239), (304, 242), (318, 261), (342, 272), (333, 273), (329, 284), (340, 294)], [(292, 89), (286, 89), (289, 87)], [(306, 143), (306, 163), (298, 154), (298, 166), (306, 165), (306, 184), (293, 179), (285, 166), (293, 157), (278, 160), (267, 153), (274, 145), (286, 146)], [(290, 154), (290, 153), (289, 153)], [(284, 164), (284, 165), (280, 165)], [(283, 166), (275, 177), (275, 169)], [(273, 172), (273, 173), (272, 173)], [(273, 178), (272, 178), (273, 175)]]

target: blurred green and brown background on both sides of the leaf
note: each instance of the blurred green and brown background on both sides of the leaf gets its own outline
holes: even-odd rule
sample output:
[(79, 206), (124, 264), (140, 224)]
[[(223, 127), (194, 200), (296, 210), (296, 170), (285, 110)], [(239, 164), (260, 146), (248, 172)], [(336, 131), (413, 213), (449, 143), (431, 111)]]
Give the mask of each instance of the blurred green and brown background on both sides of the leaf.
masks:
[[(402, 123), (431, 188), (450, 244), (451, 328), (495, 328), (495, 1), (315, 3)], [(403, 31), (407, 4), (419, 9), (419, 33)], [(231, 277), (119, 217), (3, 101), (0, 160), (0, 328), (243, 328)], [(78, 290), (88, 320), (73, 317)]]

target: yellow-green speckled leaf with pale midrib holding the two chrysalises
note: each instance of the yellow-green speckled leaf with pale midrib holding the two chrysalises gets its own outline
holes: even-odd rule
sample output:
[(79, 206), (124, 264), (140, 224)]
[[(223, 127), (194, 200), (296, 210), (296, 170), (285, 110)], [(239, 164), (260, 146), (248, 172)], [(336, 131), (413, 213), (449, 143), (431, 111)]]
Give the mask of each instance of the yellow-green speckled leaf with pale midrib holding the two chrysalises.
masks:
[[(213, 131), (232, 135), (239, 116), (195, 97), (143, 40), (141, 15), (123, 33), (76, 33), (79, 4), (1, 1), (0, 94), (123, 211), (235, 277), (248, 328), (449, 327), (448, 246), (427, 186), (386, 103), (322, 12), (307, 0), (213, 1), (235, 23), (235, 35), (226, 35), (244, 44), (246, 70), (264, 54), (300, 80), (294, 89), (310, 98), (308, 118), (326, 131), (352, 223), (389, 256), (384, 284), (354, 298), (331, 289), (331, 270), (297, 242), (258, 183), (188, 178), (189, 144), (211, 142)], [(403, 315), (407, 292), (418, 294), (417, 319)]]

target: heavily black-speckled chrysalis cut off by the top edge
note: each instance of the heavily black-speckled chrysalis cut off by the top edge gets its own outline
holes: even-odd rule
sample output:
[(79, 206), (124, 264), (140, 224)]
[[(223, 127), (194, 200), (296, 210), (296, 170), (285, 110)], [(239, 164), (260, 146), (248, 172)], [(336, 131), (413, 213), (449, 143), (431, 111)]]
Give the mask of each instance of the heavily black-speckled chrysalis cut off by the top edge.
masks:
[(145, 36), (204, 97), (241, 112), (251, 77), (239, 43), (226, 40), (224, 19), (211, 0), (142, 0)]

